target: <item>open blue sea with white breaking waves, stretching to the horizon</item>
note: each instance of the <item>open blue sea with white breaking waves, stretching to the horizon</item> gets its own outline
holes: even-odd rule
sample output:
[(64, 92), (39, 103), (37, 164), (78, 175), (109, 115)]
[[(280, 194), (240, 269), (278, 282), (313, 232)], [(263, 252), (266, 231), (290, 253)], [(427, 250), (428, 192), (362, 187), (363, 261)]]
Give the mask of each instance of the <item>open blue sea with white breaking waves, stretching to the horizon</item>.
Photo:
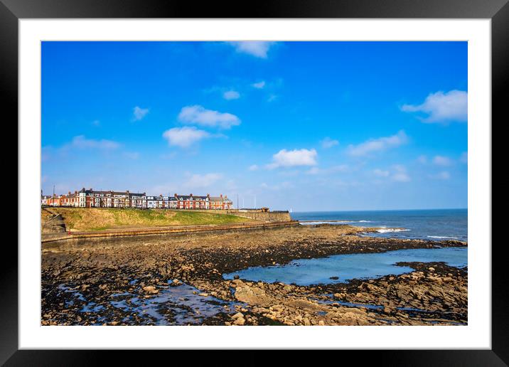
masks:
[[(303, 225), (329, 223), (377, 227), (380, 232), (370, 234), (376, 237), (468, 240), (467, 209), (294, 212), (291, 218), (311, 221)], [(392, 232), (386, 228), (405, 230)]]

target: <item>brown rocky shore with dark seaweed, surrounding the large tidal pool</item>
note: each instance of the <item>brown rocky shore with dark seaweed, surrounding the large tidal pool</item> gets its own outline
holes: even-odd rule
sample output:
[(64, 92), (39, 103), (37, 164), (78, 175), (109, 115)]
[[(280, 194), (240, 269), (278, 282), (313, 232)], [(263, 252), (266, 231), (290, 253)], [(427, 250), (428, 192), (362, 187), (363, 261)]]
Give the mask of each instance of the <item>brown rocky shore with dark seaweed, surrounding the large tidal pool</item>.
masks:
[(246, 267), (295, 259), (466, 246), (359, 235), (370, 230), (301, 225), (43, 246), (41, 324), (466, 324), (467, 271), (442, 262), (401, 263), (413, 271), (311, 286), (223, 279)]

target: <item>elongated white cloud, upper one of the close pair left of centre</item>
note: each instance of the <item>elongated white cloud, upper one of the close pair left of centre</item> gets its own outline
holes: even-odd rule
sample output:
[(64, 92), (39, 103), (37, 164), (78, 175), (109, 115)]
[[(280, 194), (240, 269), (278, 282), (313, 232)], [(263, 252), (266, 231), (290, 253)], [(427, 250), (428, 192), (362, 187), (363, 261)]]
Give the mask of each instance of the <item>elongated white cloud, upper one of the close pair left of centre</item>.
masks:
[(186, 124), (198, 124), (206, 127), (230, 129), (240, 124), (240, 119), (230, 113), (206, 110), (200, 105), (183, 107), (178, 119)]

